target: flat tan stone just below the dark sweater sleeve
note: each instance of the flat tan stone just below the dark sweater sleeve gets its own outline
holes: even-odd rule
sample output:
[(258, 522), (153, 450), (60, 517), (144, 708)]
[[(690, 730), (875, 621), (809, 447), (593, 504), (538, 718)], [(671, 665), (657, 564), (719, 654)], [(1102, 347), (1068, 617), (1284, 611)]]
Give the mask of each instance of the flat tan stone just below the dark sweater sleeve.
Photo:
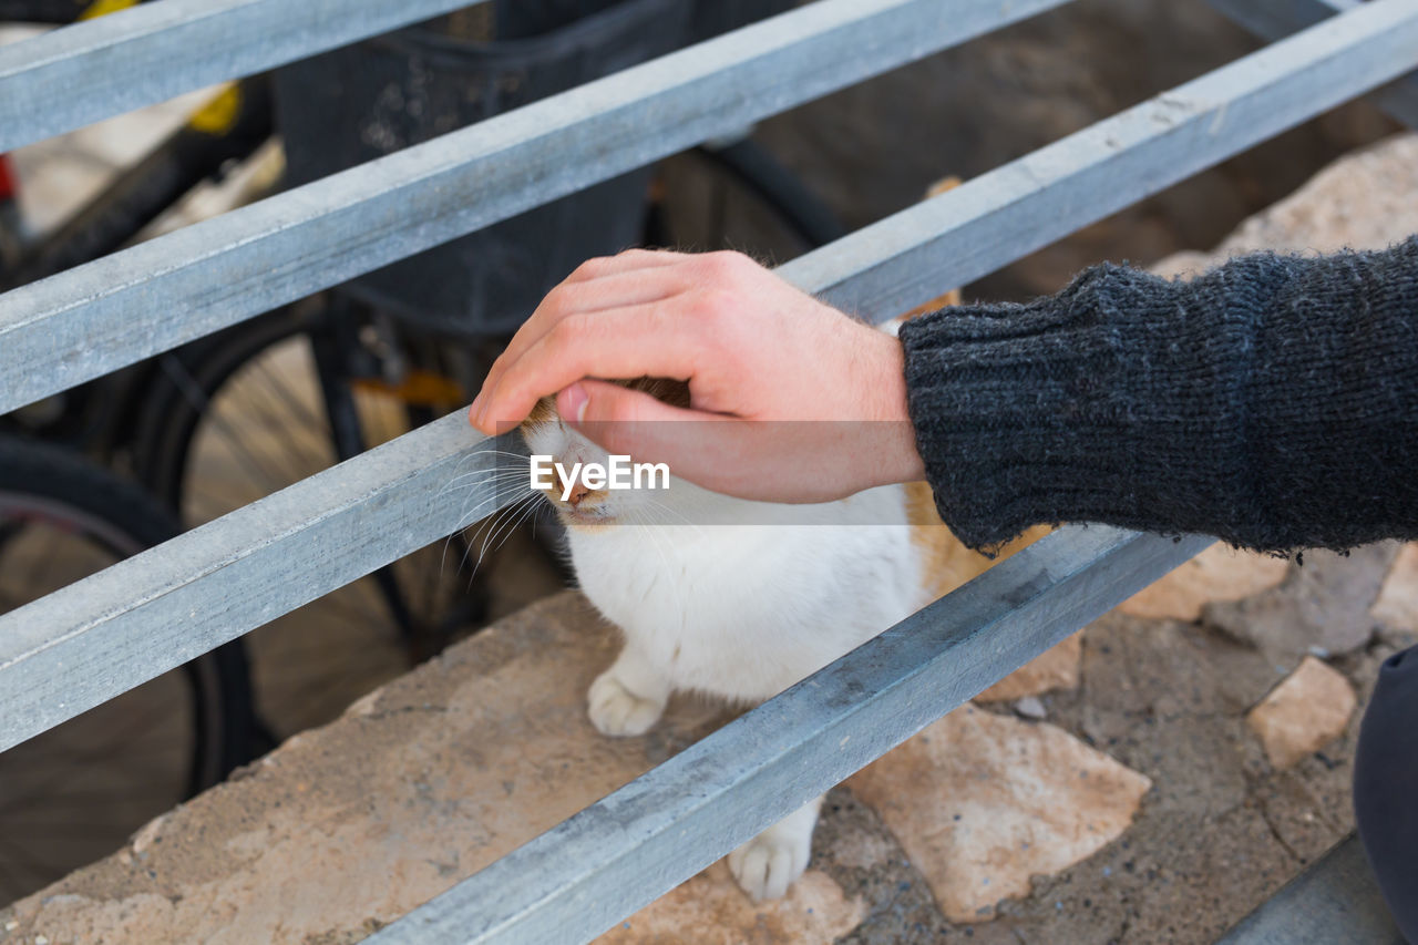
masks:
[(1200, 620), (1207, 603), (1241, 600), (1285, 580), (1290, 565), (1215, 543), (1117, 606), (1133, 617)]

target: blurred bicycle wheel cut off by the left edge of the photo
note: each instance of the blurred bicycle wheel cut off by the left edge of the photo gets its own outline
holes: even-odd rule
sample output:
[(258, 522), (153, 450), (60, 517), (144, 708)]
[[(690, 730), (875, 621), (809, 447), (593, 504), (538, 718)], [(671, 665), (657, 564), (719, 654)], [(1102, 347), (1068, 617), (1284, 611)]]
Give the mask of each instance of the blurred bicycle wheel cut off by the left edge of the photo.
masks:
[[(0, 612), (176, 534), (136, 487), (50, 444), (0, 437)], [(112, 853), (250, 761), (240, 641), (0, 753), (0, 902)]]

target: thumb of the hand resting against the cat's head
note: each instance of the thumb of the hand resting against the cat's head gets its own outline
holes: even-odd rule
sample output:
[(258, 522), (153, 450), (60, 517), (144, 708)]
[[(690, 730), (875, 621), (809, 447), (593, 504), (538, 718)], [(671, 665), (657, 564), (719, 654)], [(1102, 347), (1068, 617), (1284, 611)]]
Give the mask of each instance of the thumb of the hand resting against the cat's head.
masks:
[(562, 390), (556, 409), (605, 451), (665, 463), (671, 474), (700, 482), (735, 426), (732, 417), (672, 407), (641, 390), (591, 379)]

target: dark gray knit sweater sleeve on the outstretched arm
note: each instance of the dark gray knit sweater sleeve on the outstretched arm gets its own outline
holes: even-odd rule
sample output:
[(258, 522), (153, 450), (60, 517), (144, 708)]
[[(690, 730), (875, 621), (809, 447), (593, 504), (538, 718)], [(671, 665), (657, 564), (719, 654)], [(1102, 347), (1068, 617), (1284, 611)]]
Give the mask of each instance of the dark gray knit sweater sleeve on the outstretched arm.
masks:
[(1102, 265), (900, 338), (936, 505), (976, 548), (1039, 522), (1273, 551), (1418, 538), (1418, 238), (1191, 282)]

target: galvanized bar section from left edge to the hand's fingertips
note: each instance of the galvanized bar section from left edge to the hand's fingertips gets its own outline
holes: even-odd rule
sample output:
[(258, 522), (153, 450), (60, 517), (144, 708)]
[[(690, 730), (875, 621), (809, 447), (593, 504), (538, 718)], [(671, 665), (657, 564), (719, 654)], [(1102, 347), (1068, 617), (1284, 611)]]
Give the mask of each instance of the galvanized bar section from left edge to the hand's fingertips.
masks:
[(0, 616), (0, 751), (492, 514), (522, 448), (448, 416)]

